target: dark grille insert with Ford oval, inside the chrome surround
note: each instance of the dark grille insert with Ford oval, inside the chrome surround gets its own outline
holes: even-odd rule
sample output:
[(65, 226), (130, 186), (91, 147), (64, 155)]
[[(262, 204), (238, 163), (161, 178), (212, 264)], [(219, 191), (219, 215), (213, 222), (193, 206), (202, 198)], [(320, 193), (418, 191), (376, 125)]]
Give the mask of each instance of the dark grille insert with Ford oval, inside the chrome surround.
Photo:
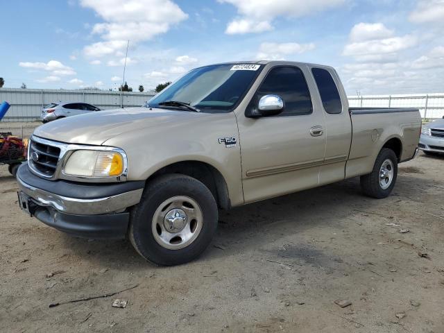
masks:
[(29, 161), (32, 169), (44, 176), (52, 177), (57, 169), (60, 148), (31, 141), (29, 146)]

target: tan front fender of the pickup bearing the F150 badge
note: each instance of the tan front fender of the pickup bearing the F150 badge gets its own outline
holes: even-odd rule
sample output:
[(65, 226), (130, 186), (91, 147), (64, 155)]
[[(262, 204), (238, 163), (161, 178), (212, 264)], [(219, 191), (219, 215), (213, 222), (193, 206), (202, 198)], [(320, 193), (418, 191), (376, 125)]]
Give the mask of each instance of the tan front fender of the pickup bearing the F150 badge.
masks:
[[(234, 137), (231, 147), (219, 138)], [(128, 180), (146, 180), (170, 164), (197, 161), (217, 169), (228, 187), (232, 205), (244, 203), (237, 122), (233, 113), (212, 114), (194, 121), (123, 133), (103, 142), (122, 148), (128, 155)]]

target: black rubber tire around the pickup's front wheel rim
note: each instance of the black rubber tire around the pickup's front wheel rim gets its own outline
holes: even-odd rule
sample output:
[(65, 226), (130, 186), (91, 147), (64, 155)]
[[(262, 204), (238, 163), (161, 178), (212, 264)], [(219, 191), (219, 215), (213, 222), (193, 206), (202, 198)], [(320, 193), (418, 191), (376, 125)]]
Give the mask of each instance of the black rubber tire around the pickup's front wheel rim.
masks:
[[(156, 241), (152, 223), (157, 208), (165, 200), (175, 196), (187, 196), (195, 200), (202, 212), (203, 221), (197, 238), (191, 244), (171, 250)], [(142, 200), (133, 208), (128, 238), (135, 250), (148, 262), (163, 266), (185, 264), (198, 257), (210, 244), (216, 232), (217, 221), (216, 200), (202, 182), (180, 174), (164, 175), (148, 183)]]

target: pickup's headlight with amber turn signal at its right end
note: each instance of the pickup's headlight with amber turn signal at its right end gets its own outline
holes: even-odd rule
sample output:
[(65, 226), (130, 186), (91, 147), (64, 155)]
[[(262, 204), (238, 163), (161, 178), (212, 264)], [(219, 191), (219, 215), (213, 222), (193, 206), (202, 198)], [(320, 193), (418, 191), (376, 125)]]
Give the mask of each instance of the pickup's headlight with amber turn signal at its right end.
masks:
[(124, 158), (117, 151), (74, 151), (63, 173), (68, 176), (117, 177), (124, 171)]

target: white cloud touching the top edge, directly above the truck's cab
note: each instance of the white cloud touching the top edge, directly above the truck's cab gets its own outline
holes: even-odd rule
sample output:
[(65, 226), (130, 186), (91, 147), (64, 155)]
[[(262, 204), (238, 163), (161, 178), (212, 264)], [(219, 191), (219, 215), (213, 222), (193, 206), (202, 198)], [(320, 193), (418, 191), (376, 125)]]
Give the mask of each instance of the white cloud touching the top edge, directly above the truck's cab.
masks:
[(237, 7), (239, 17), (227, 26), (225, 33), (260, 33), (273, 29), (273, 19), (302, 17), (313, 12), (341, 6), (346, 0), (218, 0)]

